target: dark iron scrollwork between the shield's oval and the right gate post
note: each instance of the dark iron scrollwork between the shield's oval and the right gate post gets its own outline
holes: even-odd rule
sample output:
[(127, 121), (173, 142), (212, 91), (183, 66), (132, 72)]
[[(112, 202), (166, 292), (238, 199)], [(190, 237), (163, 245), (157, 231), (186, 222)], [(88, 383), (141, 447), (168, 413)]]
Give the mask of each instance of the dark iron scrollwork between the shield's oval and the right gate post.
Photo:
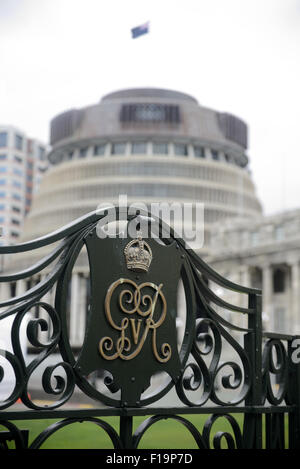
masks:
[[(180, 381), (176, 385), (178, 396), (184, 404), (189, 406), (202, 406), (209, 399), (218, 405), (237, 405), (246, 399), (251, 389), (251, 361), (245, 349), (232, 337), (228, 329), (243, 333), (248, 333), (250, 329), (230, 324), (216, 313), (213, 303), (232, 310), (238, 310), (238, 308), (216, 297), (199, 275), (197, 270), (199, 265), (195, 265), (191, 257), (189, 261), (198, 310), (202, 312), (204, 318), (196, 320), (191, 349), (191, 356), (194, 361), (187, 364)], [(210, 274), (210, 272), (208, 273)], [(251, 314), (250, 308), (241, 308), (241, 311), (247, 311), (248, 314)], [(222, 361), (224, 343), (231, 348), (232, 356), (236, 355), (239, 362), (233, 360)], [(204, 357), (209, 354), (211, 354), (211, 359), (208, 364)], [(186, 372), (189, 372), (188, 377)], [(218, 388), (223, 388), (225, 391), (238, 390), (238, 394), (234, 398), (225, 401), (221, 399), (220, 394), (222, 392), (218, 392)], [(197, 391), (195, 394), (197, 394), (198, 400), (191, 401), (186, 391)]]

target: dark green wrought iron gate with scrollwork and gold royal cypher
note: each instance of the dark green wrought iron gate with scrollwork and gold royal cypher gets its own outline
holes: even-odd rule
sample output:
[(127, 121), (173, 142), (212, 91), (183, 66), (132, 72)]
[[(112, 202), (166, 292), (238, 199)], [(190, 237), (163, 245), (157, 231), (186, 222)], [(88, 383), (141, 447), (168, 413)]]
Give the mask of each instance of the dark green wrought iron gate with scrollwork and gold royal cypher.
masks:
[[(37, 449), (61, 428), (91, 422), (115, 449), (136, 449), (154, 424), (171, 419), (190, 432), (199, 449), (298, 447), (295, 336), (263, 333), (261, 292), (221, 277), (172, 230), (165, 237), (168, 227), (161, 220), (155, 220), (155, 239), (145, 233), (136, 239), (102, 238), (97, 227), (107, 214), (93, 212), (37, 240), (0, 247), (7, 256), (51, 248), (34, 265), (0, 277), (1, 284), (11, 285), (45, 274), (0, 303), (0, 327), (8, 319), (11, 324), (11, 344), (0, 351), (0, 391), (7, 369), (13, 376), (12, 389), (0, 402), (0, 446), (13, 440), (17, 449)], [(132, 219), (137, 218), (128, 216), (127, 222)], [(69, 294), (83, 248), (90, 296), (84, 341), (75, 350)], [(213, 285), (246, 298), (246, 306), (227, 301)], [(49, 292), (53, 303), (47, 301)], [(39, 369), (47, 402), (30, 390)], [(94, 406), (71, 406), (74, 396), (86, 396)], [(206, 415), (202, 429), (189, 420), (195, 414)], [(118, 417), (119, 431), (103, 420), (107, 416)], [(134, 431), (135, 417), (145, 420)], [(21, 420), (50, 418), (56, 423), (35, 439), (18, 427)], [(228, 431), (218, 430), (224, 419)]]

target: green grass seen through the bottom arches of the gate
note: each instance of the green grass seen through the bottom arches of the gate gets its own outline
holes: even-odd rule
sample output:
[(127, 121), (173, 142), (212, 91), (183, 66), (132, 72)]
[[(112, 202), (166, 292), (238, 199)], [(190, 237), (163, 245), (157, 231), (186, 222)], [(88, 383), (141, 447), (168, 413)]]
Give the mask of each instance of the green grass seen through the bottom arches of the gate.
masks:
[[(243, 416), (236, 414), (235, 419), (242, 428)], [(207, 415), (184, 416), (202, 433)], [(117, 417), (103, 418), (117, 432), (119, 432), (119, 419)], [(134, 418), (134, 430), (145, 420), (144, 417)], [(29, 429), (29, 444), (47, 427), (56, 420), (30, 420), (15, 422), (19, 429)], [(218, 422), (218, 423), (217, 423)], [(212, 435), (216, 432), (229, 432), (233, 435), (230, 424), (219, 418), (214, 424)], [(287, 432), (286, 432), (287, 433)], [(225, 438), (222, 439), (222, 448), (226, 448)], [(100, 427), (91, 422), (75, 423), (64, 427), (49, 437), (41, 446), (42, 449), (112, 449), (113, 445)], [(197, 449), (198, 446), (191, 433), (180, 423), (173, 419), (161, 420), (147, 430), (140, 441), (139, 449)]]

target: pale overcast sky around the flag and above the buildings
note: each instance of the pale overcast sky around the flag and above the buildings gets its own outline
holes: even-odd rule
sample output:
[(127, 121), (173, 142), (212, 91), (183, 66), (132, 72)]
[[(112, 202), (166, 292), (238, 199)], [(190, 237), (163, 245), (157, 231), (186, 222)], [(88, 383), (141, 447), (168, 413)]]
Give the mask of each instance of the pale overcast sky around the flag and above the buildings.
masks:
[(265, 213), (300, 208), (300, 0), (0, 0), (0, 124), (48, 142), (56, 114), (145, 86), (242, 118)]

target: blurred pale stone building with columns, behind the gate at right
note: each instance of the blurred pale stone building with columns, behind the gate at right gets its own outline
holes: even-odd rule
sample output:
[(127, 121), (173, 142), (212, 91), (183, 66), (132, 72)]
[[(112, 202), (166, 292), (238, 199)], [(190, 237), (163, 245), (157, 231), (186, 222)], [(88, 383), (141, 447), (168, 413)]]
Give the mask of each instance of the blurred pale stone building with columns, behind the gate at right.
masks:
[[(268, 331), (300, 333), (300, 210), (261, 216), (251, 224), (217, 224), (208, 263), (226, 278), (262, 289)], [(227, 298), (229, 299), (229, 298)]]

